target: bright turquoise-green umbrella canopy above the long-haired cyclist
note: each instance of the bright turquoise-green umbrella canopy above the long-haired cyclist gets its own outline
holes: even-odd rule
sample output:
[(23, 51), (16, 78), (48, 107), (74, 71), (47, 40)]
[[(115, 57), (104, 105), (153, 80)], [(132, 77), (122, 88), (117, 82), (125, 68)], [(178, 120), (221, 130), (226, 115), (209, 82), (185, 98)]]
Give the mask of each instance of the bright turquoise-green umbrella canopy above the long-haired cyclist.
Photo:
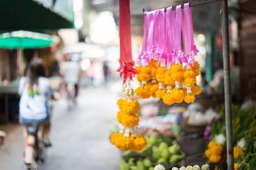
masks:
[(18, 30), (0, 35), (0, 48), (9, 49), (31, 49), (49, 47), (57, 42), (52, 35), (33, 33), (30, 31)]

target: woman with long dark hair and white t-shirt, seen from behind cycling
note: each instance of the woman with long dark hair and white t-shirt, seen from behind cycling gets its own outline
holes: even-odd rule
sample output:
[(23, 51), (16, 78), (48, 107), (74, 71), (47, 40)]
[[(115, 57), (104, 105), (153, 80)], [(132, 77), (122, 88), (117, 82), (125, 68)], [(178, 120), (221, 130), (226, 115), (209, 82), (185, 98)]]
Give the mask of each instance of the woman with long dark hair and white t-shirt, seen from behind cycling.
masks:
[[(19, 102), (19, 122), (24, 125), (23, 137), (26, 149), (32, 147), (28, 142), (27, 127), (32, 124), (43, 125), (44, 144), (50, 146), (50, 113), (48, 109), (48, 99), (52, 96), (50, 80), (46, 78), (43, 60), (33, 58), (28, 64), (26, 77), (22, 77), (18, 86), (18, 94), (21, 95)], [(31, 164), (31, 160), (26, 160), (25, 164)]]

